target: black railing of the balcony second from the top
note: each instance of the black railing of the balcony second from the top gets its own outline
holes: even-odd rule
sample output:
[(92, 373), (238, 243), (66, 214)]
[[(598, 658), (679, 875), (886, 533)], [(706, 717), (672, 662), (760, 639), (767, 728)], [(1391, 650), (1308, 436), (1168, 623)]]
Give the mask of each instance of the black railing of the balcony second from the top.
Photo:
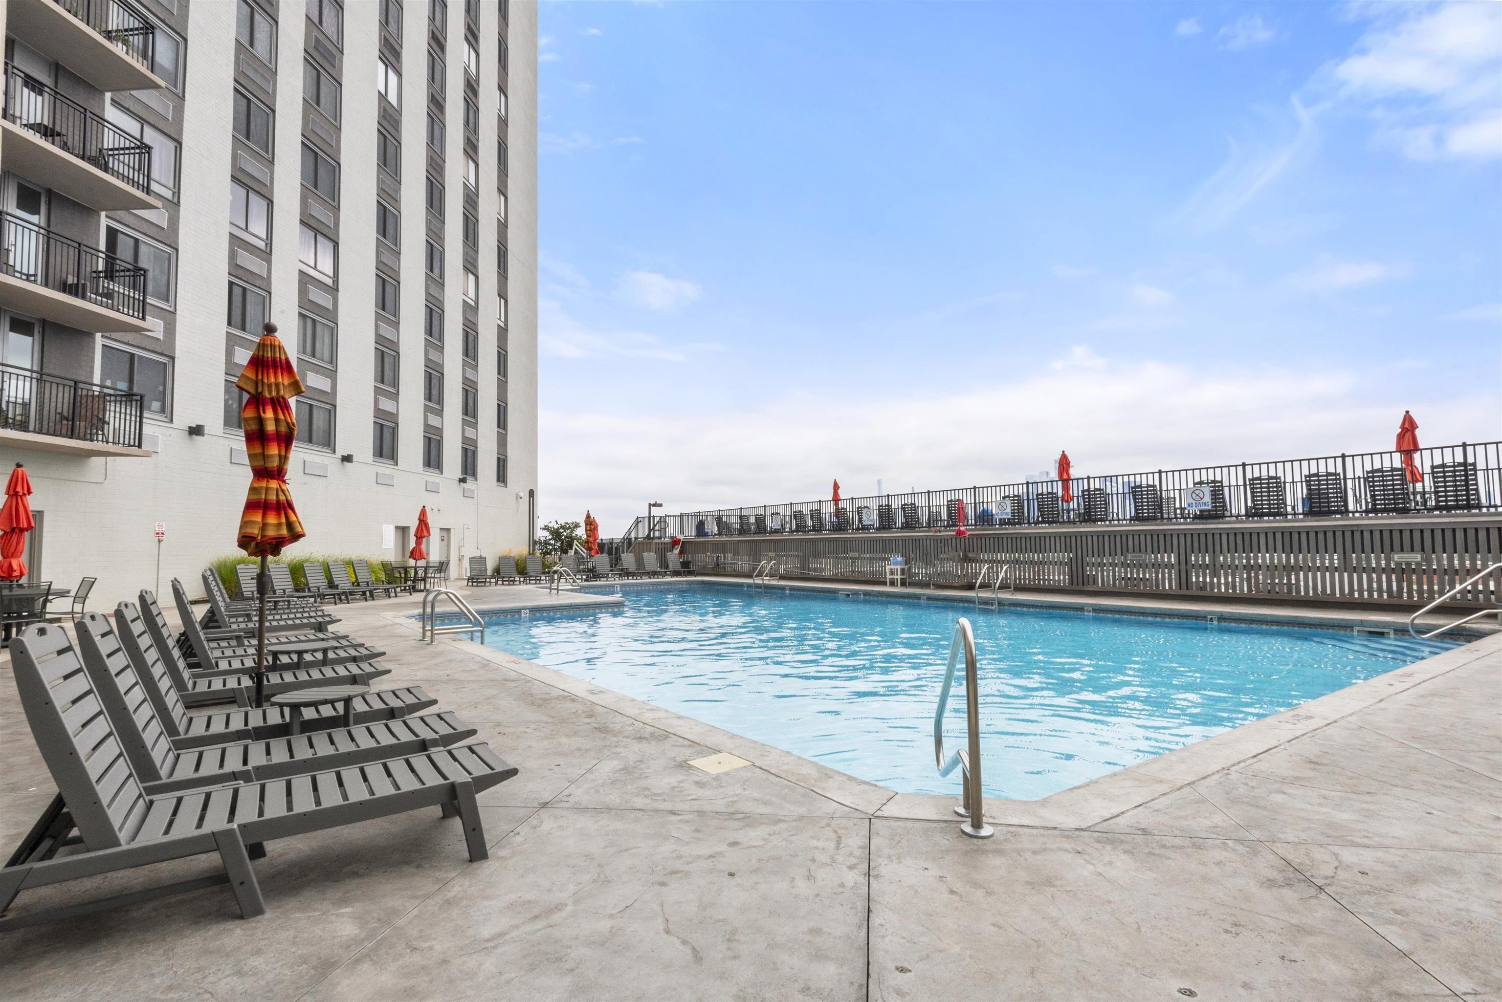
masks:
[(152, 147), (14, 65), (5, 65), (5, 117), (90, 167), (150, 194)]

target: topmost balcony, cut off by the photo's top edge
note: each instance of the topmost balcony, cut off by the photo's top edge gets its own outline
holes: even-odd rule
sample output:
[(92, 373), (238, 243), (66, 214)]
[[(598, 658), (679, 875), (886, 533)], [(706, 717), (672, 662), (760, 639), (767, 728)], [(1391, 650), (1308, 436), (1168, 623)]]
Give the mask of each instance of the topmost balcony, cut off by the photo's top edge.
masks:
[(9, 0), (6, 30), (99, 90), (155, 90), (156, 26), (128, 0)]

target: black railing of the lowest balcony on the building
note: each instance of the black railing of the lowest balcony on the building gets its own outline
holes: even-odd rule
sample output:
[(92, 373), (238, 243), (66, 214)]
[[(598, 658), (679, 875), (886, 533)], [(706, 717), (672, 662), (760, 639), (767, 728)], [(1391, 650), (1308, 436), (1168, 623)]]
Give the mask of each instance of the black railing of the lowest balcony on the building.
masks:
[(141, 448), (140, 394), (0, 365), (0, 428)]

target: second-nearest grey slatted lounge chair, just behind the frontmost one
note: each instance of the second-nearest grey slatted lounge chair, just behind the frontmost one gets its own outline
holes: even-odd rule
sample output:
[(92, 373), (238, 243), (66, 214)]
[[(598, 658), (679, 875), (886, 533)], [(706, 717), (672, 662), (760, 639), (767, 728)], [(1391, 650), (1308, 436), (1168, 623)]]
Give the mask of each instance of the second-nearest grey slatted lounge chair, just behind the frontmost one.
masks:
[[(122, 619), (119, 613), (117, 619)], [(427, 714), (380, 724), (288, 735), (275, 741), (180, 748), (162, 717), (161, 693), (152, 693), (158, 685), (156, 679), (141, 658), (126, 652), (123, 634), (117, 637), (110, 620), (96, 613), (78, 623), (75, 632), (84, 670), (93, 681), (95, 693), (110, 714), (116, 733), (123, 738), (125, 754), (137, 778), (149, 793), (323, 772), (448, 748), (476, 733), (454, 714)], [(150, 650), (150, 638), (146, 641), (146, 649)], [(132, 647), (138, 647), (138, 643), (132, 643)]]

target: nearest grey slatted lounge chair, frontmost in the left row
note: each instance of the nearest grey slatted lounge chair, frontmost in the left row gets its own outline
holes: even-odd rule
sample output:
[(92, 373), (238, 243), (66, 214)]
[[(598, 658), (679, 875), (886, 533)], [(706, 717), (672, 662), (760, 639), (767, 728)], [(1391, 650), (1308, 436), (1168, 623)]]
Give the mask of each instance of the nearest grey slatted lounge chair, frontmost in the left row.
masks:
[[(263, 843), (424, 807), (458, 814), (469, 856), (479, 861), (487, 850), (475, 795), (517, 774), (487, 745), (463, 745), (303, 777), (153, 795), (131, 768), (60, 626), (27, 629), (12, 647), (12, 665), (57, 796), (0, 870), (0, 912), (26, 888), (216, 852), (240, 915), (252, 918), (266, 910), (251, 868), (251, 858), (264, 855)], [(54, 858), (71, 844), (74, 829), (84, 852)], [(210, 883), (219, 879), (20, 915), (0, 919), (0, 930)]]

